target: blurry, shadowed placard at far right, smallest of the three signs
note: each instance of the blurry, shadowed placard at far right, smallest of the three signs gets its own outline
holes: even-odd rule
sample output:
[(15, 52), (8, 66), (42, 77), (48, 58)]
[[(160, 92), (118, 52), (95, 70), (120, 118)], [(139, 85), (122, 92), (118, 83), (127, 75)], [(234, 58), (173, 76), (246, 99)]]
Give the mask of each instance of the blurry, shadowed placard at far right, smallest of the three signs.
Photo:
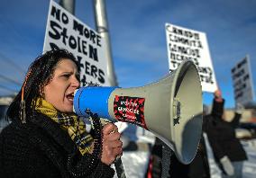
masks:
[(254, 99), (249, 56), (242, 58), (231, 70), (233, 78), (233, 95), (236, 103), (246, 104)]

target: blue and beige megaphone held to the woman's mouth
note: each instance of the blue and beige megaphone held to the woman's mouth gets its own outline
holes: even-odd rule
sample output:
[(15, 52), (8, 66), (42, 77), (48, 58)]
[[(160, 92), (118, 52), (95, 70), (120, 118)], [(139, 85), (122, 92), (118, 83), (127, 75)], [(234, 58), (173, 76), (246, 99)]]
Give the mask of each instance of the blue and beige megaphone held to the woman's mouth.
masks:
[(178, 69), (150, 85), (133, 88), (87, 86), (74, 95), (74, 111), (123, 121), (150, 130), (168, 145), (183, 164), (197, 153), (202, 130), (202, 87), (195, 64)]

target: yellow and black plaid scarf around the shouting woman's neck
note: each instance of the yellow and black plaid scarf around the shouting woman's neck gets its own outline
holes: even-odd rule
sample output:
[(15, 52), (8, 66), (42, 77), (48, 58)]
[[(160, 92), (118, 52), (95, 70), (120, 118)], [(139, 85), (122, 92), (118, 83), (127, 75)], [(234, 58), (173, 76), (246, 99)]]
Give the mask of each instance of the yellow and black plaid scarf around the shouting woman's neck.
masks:
[(59, 123), (61, 129), (67, 130), (82, 156), (90, 151), (93, 138), (87, 133), (85, 123), (79, 120), (77, 115), (59, 112), (50, 102), (42, 98), (37, 98), (35, 110)]

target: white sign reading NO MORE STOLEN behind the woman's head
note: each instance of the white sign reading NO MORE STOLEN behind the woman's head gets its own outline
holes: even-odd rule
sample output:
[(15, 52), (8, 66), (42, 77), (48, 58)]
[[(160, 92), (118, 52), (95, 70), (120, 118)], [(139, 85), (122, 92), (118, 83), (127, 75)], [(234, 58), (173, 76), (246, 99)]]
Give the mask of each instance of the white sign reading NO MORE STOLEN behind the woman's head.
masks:
[(82, 85), (108, 86), (105, 40), (59, 4), (50, 1), (43, 51), (68, 49), (78, 60)]

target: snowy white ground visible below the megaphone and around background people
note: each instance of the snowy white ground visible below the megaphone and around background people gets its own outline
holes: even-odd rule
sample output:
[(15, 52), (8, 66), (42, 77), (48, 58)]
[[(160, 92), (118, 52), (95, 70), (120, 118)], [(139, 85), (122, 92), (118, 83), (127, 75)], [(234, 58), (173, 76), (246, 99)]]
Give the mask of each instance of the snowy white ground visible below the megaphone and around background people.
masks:
[[(128, 132), (130, 134), (131, 131), (137, 132), (137, 135), (139, 136), (136, 139), (137, 143), (137, 150), (134, 151), (124, 151), (122, 156), (123, 161), (123, 167), (127, 178), (143, 178), (148, 162), (149, 162), (149, 148), (148, 144), (154, 142), (154, 136), (144, 130), (133, 130), (130, 129)], [(133, 133), (134, 133), (133, 132)], [(133, 134), (129, 135), (129, 133), (126, 135), (129, 136), (129, 138), (134, 139)], [(242, 146), (244, 147), (248, 160), (244, 162), (243, 165), (243, 178), (255, 178), (256, 177), (256, 139), (251, 140), (242, 140)], [(207, 144), (207, 143), (206, 143)], [(211, 177), (212, 178), (221, 178), (220, 176), (220, 170), (218, 169), (217, 165), (215, 165), (215, 160), (213, 158), (213, 155), (211, 153), (210, 148), (207, 147), (207, 154), (209, 158), (209, 165), (211, 169)], [(117, 177), (116, 175), (114, 177)]]

